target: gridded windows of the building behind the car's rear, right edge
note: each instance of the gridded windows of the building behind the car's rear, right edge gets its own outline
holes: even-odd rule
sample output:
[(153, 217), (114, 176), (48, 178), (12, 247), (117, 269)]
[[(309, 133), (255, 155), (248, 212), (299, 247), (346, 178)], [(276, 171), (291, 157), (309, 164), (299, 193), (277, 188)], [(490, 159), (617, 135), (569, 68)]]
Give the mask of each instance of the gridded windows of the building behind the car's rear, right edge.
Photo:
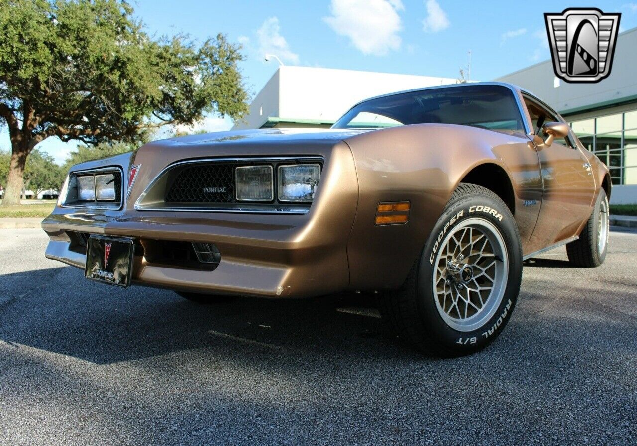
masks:
[(637, 185), (637, 110), (575, 121), (571, 127), (608, 166), (613, 185)]

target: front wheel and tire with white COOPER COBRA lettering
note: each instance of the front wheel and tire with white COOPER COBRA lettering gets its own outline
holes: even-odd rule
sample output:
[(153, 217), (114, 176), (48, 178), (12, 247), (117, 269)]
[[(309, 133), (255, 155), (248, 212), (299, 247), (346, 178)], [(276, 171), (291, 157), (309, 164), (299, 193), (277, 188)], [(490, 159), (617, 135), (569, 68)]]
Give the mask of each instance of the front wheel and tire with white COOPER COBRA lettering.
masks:
[(382, 296), (380, 310), (419, 351), (462, 356), (501, 333), (521, 279), (522, 248), (512, 214), (495, 193), (461, 183), (403, 287)]

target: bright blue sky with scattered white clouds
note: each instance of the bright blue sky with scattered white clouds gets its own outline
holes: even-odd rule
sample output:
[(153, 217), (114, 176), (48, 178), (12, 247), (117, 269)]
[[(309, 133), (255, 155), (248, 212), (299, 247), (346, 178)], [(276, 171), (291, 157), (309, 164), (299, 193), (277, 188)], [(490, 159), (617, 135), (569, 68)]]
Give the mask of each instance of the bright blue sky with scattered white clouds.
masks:
[[(491, 80), (550, 58), (545, 12), (595, 6), (621, 12), (620, 31), (637, 26), (637, 1), (138, 0), (136, 15), (156, 36), (189, 34), (203, 41), (218, 32), (244, 45), (241, 64), (252, 94), (276, 70), (264, 53), (285, 64), (386, 73), (457, 77), (468, 64), (471, 79)], [(210, 116), (206, 130), (229, 120)], [(74, 143), (49, 138), (40, 144), (62, 162)], [(9, 148), (6, 129), (0, 148)]]

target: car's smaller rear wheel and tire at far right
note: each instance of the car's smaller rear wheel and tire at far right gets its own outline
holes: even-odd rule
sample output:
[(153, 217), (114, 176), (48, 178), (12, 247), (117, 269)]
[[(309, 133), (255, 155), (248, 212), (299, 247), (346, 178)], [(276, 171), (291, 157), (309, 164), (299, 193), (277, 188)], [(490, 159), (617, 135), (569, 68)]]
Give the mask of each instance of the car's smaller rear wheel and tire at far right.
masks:
[(599, 267), (606, 258), (609, 230), (608, 197), (601, 189), (580, 238), (566, 244), (568, 260), (576, 267)]

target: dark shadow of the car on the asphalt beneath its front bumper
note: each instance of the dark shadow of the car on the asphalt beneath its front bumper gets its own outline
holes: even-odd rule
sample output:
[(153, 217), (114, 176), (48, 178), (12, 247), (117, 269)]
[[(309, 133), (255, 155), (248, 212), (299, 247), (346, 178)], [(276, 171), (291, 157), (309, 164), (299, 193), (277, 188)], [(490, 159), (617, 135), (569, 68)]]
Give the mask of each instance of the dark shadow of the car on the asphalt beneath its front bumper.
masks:
[(0, 339), (92, 363), (218, 346), (298, 354), (329, 345), (373, 348), (379, 358), (396, 356), (397, 349), (417, 355), (383, 330), (374, 295), (240, 297), (203, 305), (168, 290), (87, 281), (70, 267), (12, 276), (0, 276), (13, 283), (13, 294), (0, 301)]

